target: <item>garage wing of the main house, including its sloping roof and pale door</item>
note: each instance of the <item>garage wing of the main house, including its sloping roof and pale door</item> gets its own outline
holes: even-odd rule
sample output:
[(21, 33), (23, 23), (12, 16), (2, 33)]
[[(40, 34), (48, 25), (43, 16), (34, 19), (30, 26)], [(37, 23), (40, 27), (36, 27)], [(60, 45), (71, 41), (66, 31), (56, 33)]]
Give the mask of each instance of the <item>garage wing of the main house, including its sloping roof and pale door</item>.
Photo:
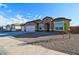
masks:
[(39, 31), (39, 24), (40, 24), (40, 22), (41, 22), (40, 19), (26, 22), (25, 25), (24, 25), (25, 31), (26, 32)]

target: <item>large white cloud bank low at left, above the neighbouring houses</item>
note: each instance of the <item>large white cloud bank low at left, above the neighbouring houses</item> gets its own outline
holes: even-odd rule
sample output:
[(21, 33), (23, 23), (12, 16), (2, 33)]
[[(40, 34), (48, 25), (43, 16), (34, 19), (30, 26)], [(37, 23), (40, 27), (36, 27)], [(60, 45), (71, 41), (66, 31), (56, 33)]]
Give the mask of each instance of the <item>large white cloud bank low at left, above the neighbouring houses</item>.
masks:
[(5, 26), (7, 24), (14, 24), (14, 23), (25, 23), (28, 19), (25, 19), (21, 15), (16, 15), (14, 18), (7, 18), (3, 15), (0, 15), (0, 26)]

